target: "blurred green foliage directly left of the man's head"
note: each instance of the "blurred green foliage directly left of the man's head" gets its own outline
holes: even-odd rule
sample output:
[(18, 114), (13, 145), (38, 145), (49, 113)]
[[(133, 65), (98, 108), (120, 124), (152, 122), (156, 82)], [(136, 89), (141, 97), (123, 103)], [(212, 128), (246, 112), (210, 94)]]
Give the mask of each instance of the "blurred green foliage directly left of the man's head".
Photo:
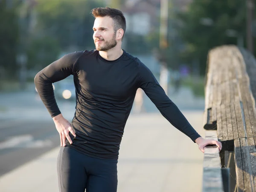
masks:
[(43, 68), (61, 52), (93, 49), (94, 18), (90, 11), (103, 5), (101, 0), (38, 0), (28, 67)]

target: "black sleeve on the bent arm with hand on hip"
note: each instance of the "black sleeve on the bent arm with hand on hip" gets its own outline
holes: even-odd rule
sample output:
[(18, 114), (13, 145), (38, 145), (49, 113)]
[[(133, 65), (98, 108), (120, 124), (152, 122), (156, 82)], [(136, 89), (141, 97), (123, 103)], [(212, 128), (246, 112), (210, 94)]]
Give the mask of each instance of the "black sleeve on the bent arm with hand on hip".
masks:
[(75, 73), (75, 64), (83, 53), (84, 51), (79, 51), (67, 54), (36, 74), (35, 87), (51, 117), (61, 114), (55, 100), (52, 83)]

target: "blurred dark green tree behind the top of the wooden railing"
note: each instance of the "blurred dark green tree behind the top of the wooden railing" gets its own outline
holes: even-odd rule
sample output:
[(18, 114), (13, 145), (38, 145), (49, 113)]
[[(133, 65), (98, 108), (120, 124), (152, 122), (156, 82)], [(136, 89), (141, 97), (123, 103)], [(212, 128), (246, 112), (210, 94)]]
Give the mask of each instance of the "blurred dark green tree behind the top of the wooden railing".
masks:
[(186, 43), (180, 58), (203, 75), (209, 49), (243, 42), (245, 10), (244, 0), (194, 0), (187, 12), (177, 14), (178, 31)]

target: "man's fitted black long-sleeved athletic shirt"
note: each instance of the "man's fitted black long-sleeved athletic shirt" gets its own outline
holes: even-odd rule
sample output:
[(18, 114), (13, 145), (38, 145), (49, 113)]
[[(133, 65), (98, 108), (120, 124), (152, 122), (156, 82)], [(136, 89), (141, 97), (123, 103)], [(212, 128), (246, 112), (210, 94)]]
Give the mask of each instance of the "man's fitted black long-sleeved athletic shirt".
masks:
[(35, 76), (38, 93), (52, 117), (60, 114), (52, 83), (73, 75), (76, 113), (71, 122), (76, 132), (73, 144), (66, 144), (95, 158), (118, 159), (124, 127), (138, 88), (156, 105), (160, 113), (192, 141), (200, 137), (151, 71), (138, 58), (123, 52), (108, 61), (99, 51), (67, 54)]

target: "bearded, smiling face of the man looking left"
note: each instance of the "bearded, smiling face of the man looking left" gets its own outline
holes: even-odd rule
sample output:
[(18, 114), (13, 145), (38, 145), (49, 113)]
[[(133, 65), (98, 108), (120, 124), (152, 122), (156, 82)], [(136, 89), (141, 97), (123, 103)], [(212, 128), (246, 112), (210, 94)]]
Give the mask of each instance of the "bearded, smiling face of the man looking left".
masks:
[(93, 31), (93, 40), (97, 51), (107, 51), (116, 46), (116, 33), (111, 17), (96, 17)]

